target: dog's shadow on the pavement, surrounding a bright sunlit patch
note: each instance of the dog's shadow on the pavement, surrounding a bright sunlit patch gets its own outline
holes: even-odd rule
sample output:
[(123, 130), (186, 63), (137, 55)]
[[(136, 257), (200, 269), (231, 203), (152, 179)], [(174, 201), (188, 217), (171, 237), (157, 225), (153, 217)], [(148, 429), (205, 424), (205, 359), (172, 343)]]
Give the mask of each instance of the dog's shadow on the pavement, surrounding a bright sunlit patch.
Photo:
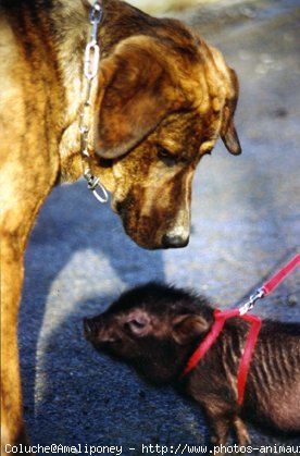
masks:
[(25, 419), (34, 443), (118, 444), (136, 447), (133, 455), (162, 439), (203, 440), (196, 408), (171, 389), (161, 394), (146, 385), (84, 341), (84, 316), (148, 280), (164, 280), (162, 251), (137, 247), (84, 183), (53, 190), (26, 252), (20, 315)]

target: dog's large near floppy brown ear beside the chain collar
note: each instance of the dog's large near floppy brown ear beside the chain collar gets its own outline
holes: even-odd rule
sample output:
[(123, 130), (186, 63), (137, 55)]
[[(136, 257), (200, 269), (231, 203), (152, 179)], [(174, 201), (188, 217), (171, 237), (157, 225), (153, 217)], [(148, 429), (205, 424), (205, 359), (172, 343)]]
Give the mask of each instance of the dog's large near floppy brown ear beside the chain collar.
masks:
[(101, 62), (96, 113), (96, 151), (117, 158), (140, 143), (180, 106), (167, 52), (154, 38), (124, 40)]

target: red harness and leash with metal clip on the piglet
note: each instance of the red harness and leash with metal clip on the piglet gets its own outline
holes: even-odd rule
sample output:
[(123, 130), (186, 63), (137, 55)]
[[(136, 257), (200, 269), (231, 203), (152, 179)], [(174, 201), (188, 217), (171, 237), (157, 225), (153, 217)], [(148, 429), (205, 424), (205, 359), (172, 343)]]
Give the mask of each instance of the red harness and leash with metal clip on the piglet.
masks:
[(249, 372), (249, 367), (251, 362), (251, 358), (254, 352), (254, 347), (258, 341), (258, 336), (260, 333), (260, 329), (262, 325), (261, 320), (257, 316), (252, 316), (247, 313), (250, 309), (254, 307), (255, 300), (267, 296), (271, 292), (273, 292), (283, 280), (293, 271), (297, 266), (300, 264), (300, 254), (296, 255), (283, 269), (280, 269), (276, 274), (273, 275), (261, 288), (259, 288), (255, 295), (250, 296), (248, 303), (246, 303), (239, 309), (229, 309), (229, 310), (214, 310), (214, 323), (211, 328), (210, 333), (207, 337), (201, 342), (199, 347), (196, 352), (191, 355), (188, 360), (188, 363), (180, 375), (180, 378), (185, 377), (195, 366), (200, 361), (200, 359), (205, 355), (205, 353), (210, 349), (213, 345), (217, 336), (220, 335), (225, 321), (233, 317), (241, 318), (245, 321), (248, 321), (251, 324), (245, 349), (241, 356), (241, 360), (239, 363), (238, 369), (238, 381), (237, 381), (237, 389), (238, 389), (238, 405), (241, 405), (243, 402), (245, 395), (245, 386), (247, 382), (247, 377)]

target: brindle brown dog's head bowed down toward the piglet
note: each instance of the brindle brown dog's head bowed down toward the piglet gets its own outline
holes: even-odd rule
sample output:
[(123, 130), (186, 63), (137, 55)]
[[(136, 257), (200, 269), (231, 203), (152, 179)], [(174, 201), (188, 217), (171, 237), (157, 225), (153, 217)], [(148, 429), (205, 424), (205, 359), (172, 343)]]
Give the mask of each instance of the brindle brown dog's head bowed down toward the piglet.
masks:
[(240, 153), (235, 72), (216, 49), (167, 24), (165, 36), (114, 47), (101, 62), (96, 102), (95, 145), (111, 169), (113, 208), (145, 248), (188, 244), (193, 173), (218, 136)]

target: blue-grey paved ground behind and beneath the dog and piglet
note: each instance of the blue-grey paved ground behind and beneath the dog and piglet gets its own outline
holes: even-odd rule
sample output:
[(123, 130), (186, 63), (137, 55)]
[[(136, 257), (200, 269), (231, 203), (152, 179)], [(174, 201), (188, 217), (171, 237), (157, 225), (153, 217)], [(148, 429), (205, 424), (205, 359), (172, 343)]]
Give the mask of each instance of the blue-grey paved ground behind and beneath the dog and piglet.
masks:
[[(239, 74), (236, 123), (243, 153), (233, 157), (220, 141), (201, 162), (190, 244), (179, 250), (138, 248), (83, 182), (53, 190), (26, 254), (20, 319), (25, 417), (35, 445), (77, 445), (79, 452), (82, 444), (80, 454), (92, 445), (100, 454), (110, 454), (104, 445), (122, 445), (122, 455), (140, 456), (142, 444), (152, 444), (152, 454), (162, 454), (154, 445), (168, 445), (167, 455), (175, 445), (183, 445), (182, 454), (185, 444), (208, 444), (196, 404), (93, 353), (82, 319), (152, 279), (193, 287), (221, 308), (236, 306), (299, 248), (299, 1), (213, 3), (185, 19)], [(295, 272), (257, 313), (300, 322), (299, 289)], [(249, 429), (255, 448), (273, 445), (284, 454), (274, 445), (300, 445), (300, 436)], [(265, 453), (272, 454), (248, 454)]]

